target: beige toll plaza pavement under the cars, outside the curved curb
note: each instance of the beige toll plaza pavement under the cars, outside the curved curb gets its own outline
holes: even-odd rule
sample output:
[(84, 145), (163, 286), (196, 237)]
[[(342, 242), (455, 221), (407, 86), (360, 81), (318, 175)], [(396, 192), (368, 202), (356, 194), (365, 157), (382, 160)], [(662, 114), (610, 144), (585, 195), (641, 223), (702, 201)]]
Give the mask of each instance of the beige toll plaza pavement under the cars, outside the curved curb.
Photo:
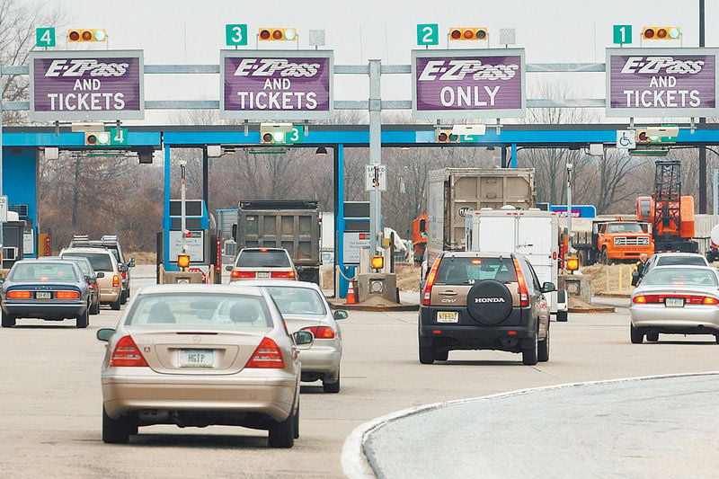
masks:
[[(144, 268), (133, 271), (133, 289), (154, 280), (152, 268)], [(416, 312), (352, 311), (341, 322), (342, 391), (325, 395), (319, 383), (302, 386), (294, 448), (268, 448), (264, 431), (174, 426), (107, 445), (99, 377), (104, 343), (95, 333), (118, 317), (103, 306), (86, 330), (74, 321), (29, 319), (0, 329), (0, 476), (342, 477), (345, 439), (377, 417), (539, 386), (715, 370), (719, 348), (708, 337), (634, 345), (626, 314), (570, 315), (568, 323), (552, 323), (551, 359), (537, 367), (500, 351), (453, 351), (446, 362), (420, 365)], [(705, 446), (704, 460), (714, 460), (714, 449)], [(650, 465), (647, 475), (656, 471)], [(443, 475), (452, 472), (449, 466)]]

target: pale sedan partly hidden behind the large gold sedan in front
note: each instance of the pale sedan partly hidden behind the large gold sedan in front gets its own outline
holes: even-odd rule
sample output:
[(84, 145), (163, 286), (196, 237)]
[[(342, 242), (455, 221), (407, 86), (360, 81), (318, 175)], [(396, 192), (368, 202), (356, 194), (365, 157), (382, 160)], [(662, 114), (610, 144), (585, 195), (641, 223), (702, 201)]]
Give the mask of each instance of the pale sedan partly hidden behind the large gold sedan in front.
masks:
[(315, 335), (312, 346), (299, 351), (302, 381), (322, 381), (325, 393), (340, 392), (342, 333), (336, 320), (347, 311), (333, 312), (322, 289), (315, 283), (288, 279), (246, 280), (230, 283), (267, 289), (287, 324), (289, 333), (309, 331)]

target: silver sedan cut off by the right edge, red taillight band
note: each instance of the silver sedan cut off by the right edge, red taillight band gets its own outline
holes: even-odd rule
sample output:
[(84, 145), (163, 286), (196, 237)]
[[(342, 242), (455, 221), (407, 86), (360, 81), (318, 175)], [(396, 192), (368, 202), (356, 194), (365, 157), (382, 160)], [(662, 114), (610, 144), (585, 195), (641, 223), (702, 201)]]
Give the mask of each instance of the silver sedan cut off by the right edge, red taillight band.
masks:
[(719, 342), (719, 275), (706, 266), (657, 266), (632, 293), (631, 341), (713, 334)]

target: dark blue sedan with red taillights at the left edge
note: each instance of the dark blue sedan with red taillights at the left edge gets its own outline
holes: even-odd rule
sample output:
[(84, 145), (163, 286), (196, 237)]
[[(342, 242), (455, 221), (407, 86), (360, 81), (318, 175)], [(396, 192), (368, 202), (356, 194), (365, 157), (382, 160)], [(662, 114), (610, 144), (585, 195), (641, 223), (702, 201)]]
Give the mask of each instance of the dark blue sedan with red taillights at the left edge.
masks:
[(90, 286), (76, 262), (22, 260), (3, 280), (3, 327), (17, 318), (62, 321), (75, 318), (78, 328), (90, 324)]

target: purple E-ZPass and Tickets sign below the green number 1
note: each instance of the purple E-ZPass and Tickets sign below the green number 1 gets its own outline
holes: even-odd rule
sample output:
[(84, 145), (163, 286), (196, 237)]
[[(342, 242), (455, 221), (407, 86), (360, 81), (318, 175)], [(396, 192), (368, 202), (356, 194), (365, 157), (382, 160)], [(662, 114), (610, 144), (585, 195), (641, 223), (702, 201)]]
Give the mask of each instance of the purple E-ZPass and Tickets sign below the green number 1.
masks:
[(716, 116), (719, 49), (607, 49), (607, 116)]

